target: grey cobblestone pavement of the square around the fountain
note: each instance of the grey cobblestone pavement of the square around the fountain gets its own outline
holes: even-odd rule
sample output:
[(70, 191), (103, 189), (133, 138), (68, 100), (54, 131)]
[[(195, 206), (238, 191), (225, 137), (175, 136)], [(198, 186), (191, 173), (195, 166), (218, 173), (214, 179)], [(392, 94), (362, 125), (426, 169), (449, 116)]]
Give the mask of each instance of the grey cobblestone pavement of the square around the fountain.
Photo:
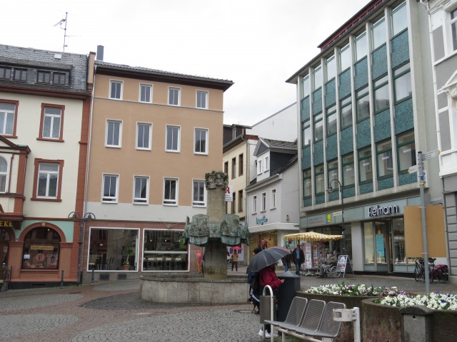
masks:
[[(280, 272), (278, 272), (280, 273)], [(244, 276), (246, 268), (229, 274)], [(301, 276), (301, 289), (341, 283), (397, 286), (423, 293), (425, 284), (410, 278), (353, 276), (319, 279)], [(142, 301), (139, 280), (112, 281), (63, 289), (10, 290), (0, 293), (0, 341), (137, 342), (262, 341), (259, 316), (251, 304), (182, 306)], [(456, 284), (431, 284), (431, 291), (457, 292)], [(276, 338), (281, 341), (281, 338)], [(286, 341), (297, 341), (288, 337)]]

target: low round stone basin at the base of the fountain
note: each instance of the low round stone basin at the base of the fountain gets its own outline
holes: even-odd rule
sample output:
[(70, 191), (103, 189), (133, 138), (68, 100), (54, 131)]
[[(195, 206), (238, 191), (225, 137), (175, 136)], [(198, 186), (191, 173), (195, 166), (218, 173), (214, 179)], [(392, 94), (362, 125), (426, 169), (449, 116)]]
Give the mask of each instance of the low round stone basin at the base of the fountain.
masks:
[(246, 277), (204, 279), (202, 276), (162, 274), (144, 276), (140, 282), (141, 299), (169, 304), (246, 304), (249, 285)]

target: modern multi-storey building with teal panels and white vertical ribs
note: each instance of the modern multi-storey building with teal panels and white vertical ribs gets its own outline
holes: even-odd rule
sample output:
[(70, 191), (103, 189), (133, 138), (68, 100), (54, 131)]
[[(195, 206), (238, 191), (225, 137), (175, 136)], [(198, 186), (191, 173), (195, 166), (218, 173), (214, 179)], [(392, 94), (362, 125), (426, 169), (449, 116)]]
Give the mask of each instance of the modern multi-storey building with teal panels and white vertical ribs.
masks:
[[(344, 232), (337, 248), (355, 271), (413, 271), (403, 214), (421, 201), (408, 169), (437, 148), (427, 20), (416, 0), (370, 1), (287, 80), (300, 103), (300, 229)], [(426, 204), (442, 204), (438, 160), (425, 167)]]

